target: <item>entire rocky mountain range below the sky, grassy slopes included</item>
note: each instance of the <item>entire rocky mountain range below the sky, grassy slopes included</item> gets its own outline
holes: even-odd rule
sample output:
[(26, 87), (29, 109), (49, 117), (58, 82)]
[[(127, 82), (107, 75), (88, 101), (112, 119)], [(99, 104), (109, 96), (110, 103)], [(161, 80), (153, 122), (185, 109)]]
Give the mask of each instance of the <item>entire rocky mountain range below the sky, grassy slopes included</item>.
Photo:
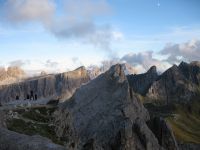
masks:
[[(96, 68), (91, 78), (91, 70), (80, 67), (2, 85), (0, 148), (13, 149), (17, 140), (4, 144), (13, 136), (33, 139), (39, 134), (70, 150), (199, 149), (200, 63), (181, 62), (162, 74), (156, 66), (143, 74), (127, 74), (126, 68), (123, 64), (104, 72)], [(24, 100), (30, 91), (37, 93), (37, 101), (59, 99), (59, 104), (4, 107), (18, 101), (16, 95), (31, 101)], [(28, 143), (16, 149), (25, 149)]]

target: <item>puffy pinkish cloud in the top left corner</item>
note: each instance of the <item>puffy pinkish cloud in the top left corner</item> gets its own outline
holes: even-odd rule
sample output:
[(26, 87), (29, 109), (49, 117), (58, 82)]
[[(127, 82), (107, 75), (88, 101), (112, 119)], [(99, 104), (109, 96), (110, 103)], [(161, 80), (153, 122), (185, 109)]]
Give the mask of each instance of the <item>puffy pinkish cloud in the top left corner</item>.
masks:
[(51, 0), (7, 0), (3, 3), (5, 19), (11, 23), (49, 21), (55, 13)]

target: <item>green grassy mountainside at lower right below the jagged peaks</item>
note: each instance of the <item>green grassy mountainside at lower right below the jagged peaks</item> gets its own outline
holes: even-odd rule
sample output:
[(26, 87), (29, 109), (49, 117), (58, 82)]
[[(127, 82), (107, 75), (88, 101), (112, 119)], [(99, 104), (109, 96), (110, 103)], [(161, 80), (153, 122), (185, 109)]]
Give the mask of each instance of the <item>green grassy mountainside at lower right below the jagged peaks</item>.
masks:
[(151, 116), (164, 117), (179, 143), (200, 144), (200, 97), (188, 103), (146, 103)]

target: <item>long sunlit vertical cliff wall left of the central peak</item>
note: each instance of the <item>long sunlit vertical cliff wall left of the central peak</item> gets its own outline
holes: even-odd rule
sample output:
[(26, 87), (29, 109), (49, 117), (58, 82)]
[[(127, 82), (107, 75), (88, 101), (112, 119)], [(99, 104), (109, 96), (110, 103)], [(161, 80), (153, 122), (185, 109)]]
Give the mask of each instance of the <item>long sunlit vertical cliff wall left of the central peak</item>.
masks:
[(1, 85), (0, 102), (5, 103), (17, 99), (39, 98), (68, 99), (81, 84), (88, 82), (89, 76), (84, 67), (74, 71), (46, 75), (24, 82)]

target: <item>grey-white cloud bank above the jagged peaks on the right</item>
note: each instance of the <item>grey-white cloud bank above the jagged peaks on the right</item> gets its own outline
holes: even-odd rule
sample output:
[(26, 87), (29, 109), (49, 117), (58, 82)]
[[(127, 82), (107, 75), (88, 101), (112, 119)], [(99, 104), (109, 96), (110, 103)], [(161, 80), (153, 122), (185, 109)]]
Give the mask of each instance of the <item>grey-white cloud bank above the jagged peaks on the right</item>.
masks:
[[(166, 59), (155, 58), (156, 54), (166, 57)], [(178, 64), (181, 61), (200, 60), (200, 40), (193, 39), (179, 44), (168, 43), (157, 53), (153, 51), (129, 53), (124, 55), (121, 60), (134, 66), (141, 65), (143, 70), (148, 70), (152, 65), (155, 65), (162, 72), (170, 65)]]

